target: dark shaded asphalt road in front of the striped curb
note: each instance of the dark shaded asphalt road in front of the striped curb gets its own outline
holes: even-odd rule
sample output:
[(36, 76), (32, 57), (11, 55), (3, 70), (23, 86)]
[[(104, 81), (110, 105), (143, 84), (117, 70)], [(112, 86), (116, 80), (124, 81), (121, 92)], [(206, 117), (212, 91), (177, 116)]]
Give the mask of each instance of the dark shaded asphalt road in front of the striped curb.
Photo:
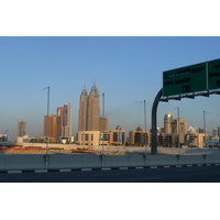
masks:
[(220, 166), (0, 174), (0, 183), (220, 183)]

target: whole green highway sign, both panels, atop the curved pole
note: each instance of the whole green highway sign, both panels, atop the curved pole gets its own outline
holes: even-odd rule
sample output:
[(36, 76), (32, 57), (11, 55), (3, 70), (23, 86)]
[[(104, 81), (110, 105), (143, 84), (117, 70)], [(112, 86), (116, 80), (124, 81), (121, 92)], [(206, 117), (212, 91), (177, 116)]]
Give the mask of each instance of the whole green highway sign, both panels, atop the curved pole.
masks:
[(220, 58), (163, 72), (163, 96), (220, 89)]

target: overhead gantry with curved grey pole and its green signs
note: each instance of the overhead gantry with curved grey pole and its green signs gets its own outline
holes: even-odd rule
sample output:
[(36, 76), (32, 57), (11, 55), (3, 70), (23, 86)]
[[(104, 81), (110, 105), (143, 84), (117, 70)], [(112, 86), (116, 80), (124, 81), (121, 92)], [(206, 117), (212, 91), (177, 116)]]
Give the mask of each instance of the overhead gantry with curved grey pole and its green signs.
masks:
[(220, 58), (182, 68), (163, 72), (163, 88), (158, 91), (152, 107), (152, 150), (157, 154), (156, 111), (160, 101), (195, 98), (211, 94), (220, 95)]

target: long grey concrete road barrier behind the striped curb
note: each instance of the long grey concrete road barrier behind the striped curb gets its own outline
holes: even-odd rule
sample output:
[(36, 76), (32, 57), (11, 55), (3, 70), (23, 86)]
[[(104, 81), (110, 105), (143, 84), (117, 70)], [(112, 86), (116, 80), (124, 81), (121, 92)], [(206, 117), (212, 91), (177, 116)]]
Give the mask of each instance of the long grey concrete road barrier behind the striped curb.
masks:
[[(47, 168), (94, 168), (123, 166), (160, 166), (220, 163), (220, 155), (48, 155)], [(45, 169), (46, 160), (42, 154), (0, 155), (0, 170)]]

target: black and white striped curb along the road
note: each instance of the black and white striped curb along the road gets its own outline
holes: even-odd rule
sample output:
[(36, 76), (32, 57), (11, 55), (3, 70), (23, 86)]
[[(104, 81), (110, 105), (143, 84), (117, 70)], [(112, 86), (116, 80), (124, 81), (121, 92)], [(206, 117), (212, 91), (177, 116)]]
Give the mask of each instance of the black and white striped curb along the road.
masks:
[(116, 167), (85, 167), (85, 168), (48, 168), (48, 169), (10, 169), (0, 170), (0, 174), (22, 174), (22, 173), (55, 173), (55, 172), (91, 172), (91, 170), (124, 170), (124, 169), (143, 169), (143, 168), (179, 168), (193, 166), (219, 166), (219, 163), (212, 164), (183, 164), (183, 165), (152, 165), (152, 166), (116, 166)]

